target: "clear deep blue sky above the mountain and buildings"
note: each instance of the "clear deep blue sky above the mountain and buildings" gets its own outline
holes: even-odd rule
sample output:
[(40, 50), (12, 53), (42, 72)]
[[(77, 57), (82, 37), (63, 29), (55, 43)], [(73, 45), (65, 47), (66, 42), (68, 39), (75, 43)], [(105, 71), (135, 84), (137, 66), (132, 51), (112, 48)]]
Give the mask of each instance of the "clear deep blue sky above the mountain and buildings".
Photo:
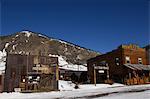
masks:
[(148, 0), (0, 0), (0, 35), (30, 30), (101, 53), (150, 41)]

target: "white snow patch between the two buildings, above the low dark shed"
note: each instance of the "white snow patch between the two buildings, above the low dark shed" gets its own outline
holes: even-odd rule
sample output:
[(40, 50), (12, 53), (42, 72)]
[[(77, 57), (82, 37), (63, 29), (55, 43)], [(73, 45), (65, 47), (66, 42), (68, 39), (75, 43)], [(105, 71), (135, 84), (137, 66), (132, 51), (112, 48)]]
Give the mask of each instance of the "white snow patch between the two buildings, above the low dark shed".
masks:
[(71, 70), (71, 71), (87, 71), (87, 67), (85, 65), (77, 65), (68, 63), (63, 56), (51, 55), (52, 57), (58, 57), (58, 65), (60, 69)]

